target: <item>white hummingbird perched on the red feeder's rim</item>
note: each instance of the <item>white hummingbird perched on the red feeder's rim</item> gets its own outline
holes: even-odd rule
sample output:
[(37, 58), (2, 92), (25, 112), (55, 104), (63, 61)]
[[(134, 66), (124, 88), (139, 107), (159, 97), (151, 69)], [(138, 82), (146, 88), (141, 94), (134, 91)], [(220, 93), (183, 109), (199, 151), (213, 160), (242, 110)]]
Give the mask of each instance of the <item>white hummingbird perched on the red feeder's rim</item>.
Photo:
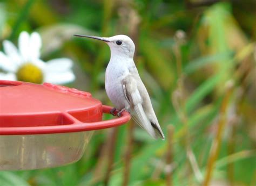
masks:
[(158, 123), (150, 101), (149, 93), (139, 76), (133, 61), (135, 45), (127, 35), (113, 37), (97, 37), (92, 35), (77, 35), (104, 41), (110, 47), (111, 57), (105, 73), (105, 89), (110, 101), (114, 104), (112, 115), (117, 116), (126, 110), (132, 119), (151, 137), (164, 140), (164, 133)]

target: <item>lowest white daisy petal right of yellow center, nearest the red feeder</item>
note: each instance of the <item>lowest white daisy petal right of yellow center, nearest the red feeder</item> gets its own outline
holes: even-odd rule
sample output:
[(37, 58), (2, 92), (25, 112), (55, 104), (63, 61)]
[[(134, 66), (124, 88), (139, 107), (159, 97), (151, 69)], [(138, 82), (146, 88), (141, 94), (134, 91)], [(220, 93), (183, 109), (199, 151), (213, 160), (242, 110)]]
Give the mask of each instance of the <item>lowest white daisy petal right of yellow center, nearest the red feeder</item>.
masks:
[(73, 72), (66, 71), (65, 73), (45, 73), (45, 82), (54, 83), (54, 84), (65, 84), (70, 83), (75, 80), (75, 75)]

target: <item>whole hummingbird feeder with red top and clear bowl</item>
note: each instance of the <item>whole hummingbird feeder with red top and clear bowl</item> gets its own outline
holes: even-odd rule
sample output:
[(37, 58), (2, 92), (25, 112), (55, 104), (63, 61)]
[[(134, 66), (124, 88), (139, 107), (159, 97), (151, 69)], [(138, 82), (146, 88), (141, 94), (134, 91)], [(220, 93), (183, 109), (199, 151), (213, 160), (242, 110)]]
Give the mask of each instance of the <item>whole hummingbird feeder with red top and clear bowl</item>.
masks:
[(110, 106), (88, 92), (51, 83), (0, 80), (0, 170), (57, 167), (78, 161), (94, 130), (130, 120), (102, 121)]

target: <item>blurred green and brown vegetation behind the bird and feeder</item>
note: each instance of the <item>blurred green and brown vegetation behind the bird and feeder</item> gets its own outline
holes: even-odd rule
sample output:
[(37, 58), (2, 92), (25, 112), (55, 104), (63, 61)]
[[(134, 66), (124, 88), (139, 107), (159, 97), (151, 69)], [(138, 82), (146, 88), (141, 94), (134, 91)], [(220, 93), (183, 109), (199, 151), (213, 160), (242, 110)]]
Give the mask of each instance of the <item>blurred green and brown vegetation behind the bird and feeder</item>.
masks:
[[(42, 58), (68, 57), (76, 81), (104, 90), (109, 47), (73, 37), (129, 35), (166, 140), (131, 121), (97, 131), (68, 166), (1, 171), (1, 185), (256, 185), (255, 1), (35, 1), (0, 3), (0, 47), (38, 31)], [(110, 116), (106, 116), (109, 118)]]

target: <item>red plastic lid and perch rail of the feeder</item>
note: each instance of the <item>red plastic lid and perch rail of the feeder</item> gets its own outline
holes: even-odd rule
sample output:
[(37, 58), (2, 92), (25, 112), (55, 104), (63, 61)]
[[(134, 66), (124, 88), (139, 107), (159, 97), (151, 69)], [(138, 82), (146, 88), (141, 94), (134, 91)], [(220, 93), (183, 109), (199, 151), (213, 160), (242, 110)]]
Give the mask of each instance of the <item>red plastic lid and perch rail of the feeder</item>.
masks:
[(60, 85), (0, 80), (0, 135), (46, 134), (99, 130), (130, 120), (102, 121), (104, 106), (89, 92)]

